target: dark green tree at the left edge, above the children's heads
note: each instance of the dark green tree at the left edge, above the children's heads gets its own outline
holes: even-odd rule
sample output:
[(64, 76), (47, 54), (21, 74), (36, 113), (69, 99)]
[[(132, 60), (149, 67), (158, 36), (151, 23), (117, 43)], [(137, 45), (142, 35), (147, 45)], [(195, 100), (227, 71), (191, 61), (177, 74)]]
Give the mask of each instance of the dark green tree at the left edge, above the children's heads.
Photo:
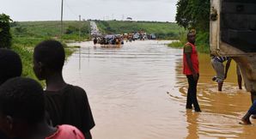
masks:
[(0, 14), (0, 48), (11, 46), (10, 21), (9, 15)]

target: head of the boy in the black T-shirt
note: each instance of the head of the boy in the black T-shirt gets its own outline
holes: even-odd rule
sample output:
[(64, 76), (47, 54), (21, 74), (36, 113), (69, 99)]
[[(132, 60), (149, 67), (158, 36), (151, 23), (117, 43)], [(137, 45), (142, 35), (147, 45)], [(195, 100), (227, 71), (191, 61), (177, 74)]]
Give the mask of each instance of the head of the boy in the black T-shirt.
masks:
[(44, 80), (49, 72), (62, 72), (64, 66), (64, 46), (57, 40), (45, 40), (34, 47), (34, 73)]

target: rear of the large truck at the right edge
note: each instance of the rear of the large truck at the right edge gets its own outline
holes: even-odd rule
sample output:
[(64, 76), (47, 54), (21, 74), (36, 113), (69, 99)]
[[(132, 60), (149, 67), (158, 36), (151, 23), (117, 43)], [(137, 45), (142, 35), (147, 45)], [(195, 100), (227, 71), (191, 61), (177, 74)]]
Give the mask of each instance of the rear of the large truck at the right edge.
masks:
[(232, 57), (256, 100), (256, 1), (210, 0), (210, 53)]

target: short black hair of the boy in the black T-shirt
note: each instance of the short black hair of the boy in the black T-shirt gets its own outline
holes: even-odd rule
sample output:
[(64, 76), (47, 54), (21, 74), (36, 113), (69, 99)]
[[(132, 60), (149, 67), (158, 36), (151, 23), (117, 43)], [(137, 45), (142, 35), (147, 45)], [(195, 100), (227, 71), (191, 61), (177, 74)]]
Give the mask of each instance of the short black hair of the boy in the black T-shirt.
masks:
[(64, 46), (57, 40), (42, 41), (34, 47), (34, 59), (48, 69), (62, 70), (65, 60)]

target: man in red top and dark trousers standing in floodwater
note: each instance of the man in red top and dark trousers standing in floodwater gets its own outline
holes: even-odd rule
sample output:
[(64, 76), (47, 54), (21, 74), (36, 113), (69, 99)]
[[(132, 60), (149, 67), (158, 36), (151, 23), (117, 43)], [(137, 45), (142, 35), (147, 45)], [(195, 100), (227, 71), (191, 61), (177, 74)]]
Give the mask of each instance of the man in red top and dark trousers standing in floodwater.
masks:
[(192, 105), (196, 112), (201, 112), (197, 100), (197, 86), (199, 78), (199, 62), (198, 51), (195, 45), (195, 33), (187, 33), (187, 43), (183, 52), (183, 74), (186, 75), (188, 81), (188, 91), (186, 97), (186, 109), (192, 109)]

